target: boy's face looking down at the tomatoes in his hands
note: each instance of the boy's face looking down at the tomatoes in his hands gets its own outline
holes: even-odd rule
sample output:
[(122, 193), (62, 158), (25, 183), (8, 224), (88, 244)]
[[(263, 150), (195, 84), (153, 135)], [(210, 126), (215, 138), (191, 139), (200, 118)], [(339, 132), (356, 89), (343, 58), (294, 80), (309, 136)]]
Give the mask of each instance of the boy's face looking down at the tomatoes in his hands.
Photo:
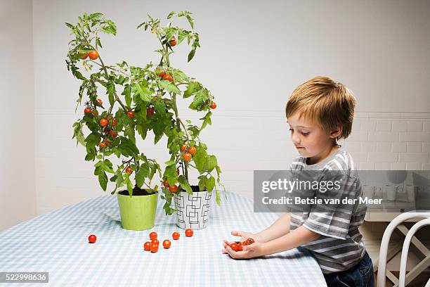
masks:
[(287, 119), (289, 132), (294, 146), (301, 156), (311, 158), (314, 163), (323, 160), (332, 150), (334, 139), (339, 135), (338, 131), (327, 132), (315, 122), (300, 117), (300, 113), (294, 113)]

